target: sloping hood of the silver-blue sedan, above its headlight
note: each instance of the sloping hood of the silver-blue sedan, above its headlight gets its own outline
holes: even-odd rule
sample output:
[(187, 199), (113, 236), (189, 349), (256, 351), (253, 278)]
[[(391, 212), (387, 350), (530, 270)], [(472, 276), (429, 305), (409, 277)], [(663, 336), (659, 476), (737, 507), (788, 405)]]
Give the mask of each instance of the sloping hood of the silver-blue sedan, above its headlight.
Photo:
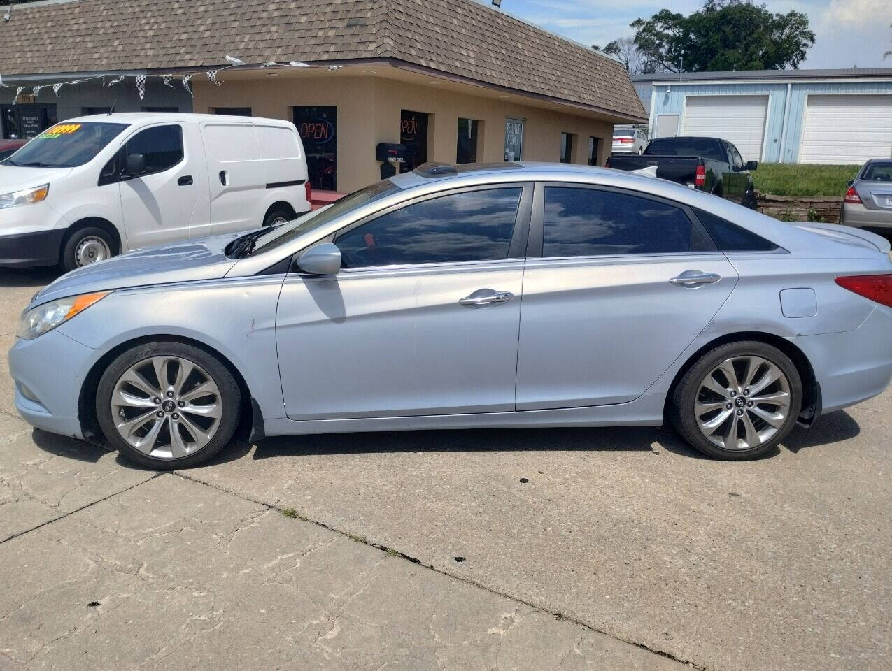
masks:
[(235, 259), (224, 250), (244, 233), (228, 233), (210, 238), (133, 251), (120, 257), (91, 264), (63, 274), (39, 291), (32, 305), (80, 293), (132, 289), (154, 284), (216, 280), (227, 274)]

